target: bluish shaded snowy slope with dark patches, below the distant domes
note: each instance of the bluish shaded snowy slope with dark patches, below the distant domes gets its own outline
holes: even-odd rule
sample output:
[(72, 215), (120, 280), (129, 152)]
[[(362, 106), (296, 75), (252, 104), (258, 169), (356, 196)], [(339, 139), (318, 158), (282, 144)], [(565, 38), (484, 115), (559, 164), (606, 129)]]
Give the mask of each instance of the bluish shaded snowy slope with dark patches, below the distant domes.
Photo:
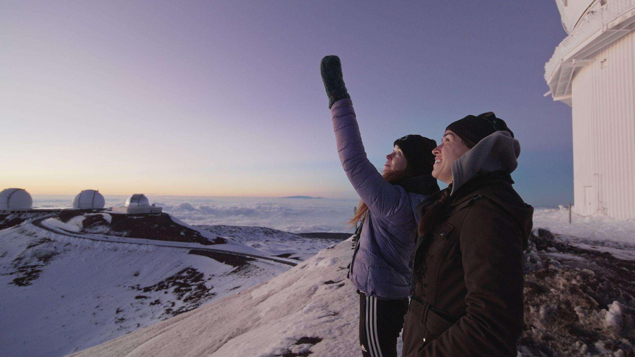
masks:
[[(248, 289), (291, 268), (200, 249), (67, 237), (34, 226), (35, 218), (0, 230), (3, 356), (63, 356)], [(77, 224), (66, 228), (79, 230)], [(268, 254), (231, 238), (215, 245), (174, 243)]]

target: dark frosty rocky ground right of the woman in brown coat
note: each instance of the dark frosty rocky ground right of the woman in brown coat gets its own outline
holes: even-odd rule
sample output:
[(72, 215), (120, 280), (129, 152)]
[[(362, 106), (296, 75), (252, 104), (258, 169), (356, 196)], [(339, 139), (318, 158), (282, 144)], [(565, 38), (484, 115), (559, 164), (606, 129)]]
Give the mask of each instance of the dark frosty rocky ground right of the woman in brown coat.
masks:
[(530, 239), (519, 354), (635, 356), (635, 261), (581, 249), (545, 230)]

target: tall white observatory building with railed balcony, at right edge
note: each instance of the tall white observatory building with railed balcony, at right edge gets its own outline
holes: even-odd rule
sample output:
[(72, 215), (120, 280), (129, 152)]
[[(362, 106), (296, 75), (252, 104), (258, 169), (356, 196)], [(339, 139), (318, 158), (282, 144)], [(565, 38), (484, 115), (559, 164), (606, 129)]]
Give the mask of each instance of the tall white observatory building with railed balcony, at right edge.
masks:
[(545, 63), (572, 107), (575, 212), (635, 219), (635, 0), (556, 0), (568, 36)]

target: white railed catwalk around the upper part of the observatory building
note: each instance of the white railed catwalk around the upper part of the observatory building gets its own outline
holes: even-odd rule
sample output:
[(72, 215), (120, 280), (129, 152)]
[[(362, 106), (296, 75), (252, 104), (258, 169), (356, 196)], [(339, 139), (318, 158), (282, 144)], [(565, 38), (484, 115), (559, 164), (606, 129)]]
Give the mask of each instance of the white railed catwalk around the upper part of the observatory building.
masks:
[(589, 10), (582, 15), (582, 19), (560, 44), (556, 47), (554, 54), (545, 63), (545, 81), (549, 82), (549, 77), (558, 67), (562, 58), (569, 53), (575, 46), (584, 42), (596, 31), (603, 28), (609, 22), (615, 20), (618, 16), (635, 7), (635, 0), (605, 0), (598, 1), (591, 6)]

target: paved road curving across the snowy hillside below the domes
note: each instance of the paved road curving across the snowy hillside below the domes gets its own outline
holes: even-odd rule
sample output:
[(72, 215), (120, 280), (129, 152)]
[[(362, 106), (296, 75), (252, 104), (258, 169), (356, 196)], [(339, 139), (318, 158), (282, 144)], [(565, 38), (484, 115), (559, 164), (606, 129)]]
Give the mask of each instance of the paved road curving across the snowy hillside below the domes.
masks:
[[(268, 260), (268, 261), (274, 261), (276, 263), (282, 263), (282, 264), (286, 264), (286, 265), (290, 265), (290, 266), (296, 266), (296, 265), (298, 265), (298, 263), (301, 263), (299, 261), (298, 262), (292, 261), (291, 259), (284, 259), (284, 258), (271, 257), (271, 256), (261, 256), (259, 254), (250, 254), (250, 253), (238, 252), (236, 250), (208, 248), (208, 247), (206, 247), (204, 245), (192, 247), (192, 246), (187, 246), (186, 244), (188, 244), (188, 243), (182, 243), (184, 245), (180, 246), (179, 244), (181, 242), (164, 242), (164, 241), (161, 241), (161, 240), (148, 240), (148, 239), (144, 239), (144, 242), (121, 242), (121, 238), (122, 237), (112, 237), (112, 236), (107, 236), (107, 235), (93, 235), (93, 234), (90, 234), (90, 233), (77, 233), (77, 232), (74, 232), (74, 231), (65, 230), (64, 228), (51, 227), (51, 226), (48, 226), (47, 224), (44, 224), (43, 223), (44, 219), (49, 219), (50, 217), (51, 216), (44, 216), (44, 217), (41, 217), (41, 218), (38, 218), (38, 219), (34, 219), (34, 221), (32, 221), (31, 223), (34, 226), (38, 227), (38, 228), (42, 228), (43, 230), (51, 231), (53, 233), (57, 233), (57, 234), (61, 234), (61, 235), (67, 235), (69, 237), (74, 237), (74, 238), (95, 240), (97, 242), (110, 242), (110, 243), (121, 243), (121, 244), (140, 244), (140, 245), (156, 245), (157, 247), (170, 247), (170, 248), (190, 249), (190, 250), (191, 249), (209, 250), (210, 252), (232, 254), (234, 256), (251, 257), (251, 258), (256, 258), (256, 259), (265, 259), (265, 260)], [(112, 237), (112, 238), (109, 239), (107, 237)], [(137, 238), (127, 238), (127, 239), (137, 239)], [(164, 243), (161, 243), (161, 242), (164, 242)]]

